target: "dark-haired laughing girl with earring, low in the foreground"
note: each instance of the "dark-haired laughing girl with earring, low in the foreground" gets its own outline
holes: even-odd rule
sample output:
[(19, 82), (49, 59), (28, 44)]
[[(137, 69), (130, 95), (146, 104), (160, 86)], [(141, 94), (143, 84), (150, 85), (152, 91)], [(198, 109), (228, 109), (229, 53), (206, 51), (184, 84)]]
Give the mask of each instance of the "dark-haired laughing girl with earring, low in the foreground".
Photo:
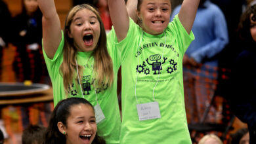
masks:
[(45, 144), (105, 143), (98, 137), (93, 105), (83, 98), (68, 98), (54, 107)]

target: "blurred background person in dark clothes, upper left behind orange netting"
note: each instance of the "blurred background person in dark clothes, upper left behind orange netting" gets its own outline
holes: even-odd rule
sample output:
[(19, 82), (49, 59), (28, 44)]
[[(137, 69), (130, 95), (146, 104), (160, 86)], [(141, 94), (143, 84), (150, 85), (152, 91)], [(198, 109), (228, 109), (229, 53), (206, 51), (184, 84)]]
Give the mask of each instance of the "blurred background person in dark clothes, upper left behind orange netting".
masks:
[(16, 53), (12, 65), (16, 81), (46, 83), (48, 73), (41, 48), (42, 14), (37, 0), (22, 0), (22, 12), (13, 18), (13, 25)]

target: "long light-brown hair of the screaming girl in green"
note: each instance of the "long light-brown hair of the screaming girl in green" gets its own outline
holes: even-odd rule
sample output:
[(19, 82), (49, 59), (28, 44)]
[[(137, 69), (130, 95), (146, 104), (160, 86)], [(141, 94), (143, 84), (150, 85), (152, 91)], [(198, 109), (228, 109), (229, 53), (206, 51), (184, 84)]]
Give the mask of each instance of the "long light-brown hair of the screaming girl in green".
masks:
[[(68, 86), (72, 84), (72, 81), (75, 77), (75, 69), (76, 69), (76, 54), (77, 48), (74, 46), (74, 39), (68, 37), (68, 31), (70, 31), (70, 25), (72, 24), (72, 20), (75, 14), (79, 10), (88, 9), (96, 14), (98, 22), (100, 22), (100, 37), (98, 39), (98, 44), (91, 56), (95, 58), (94, 69), (96, 70), (96, 84), (101, 86), (101, 84), (111, 85), (114, 79), (113, 74), (113, 65), (110, 55), (108, 54), (108, 49), (106, 47), (106, 33), (104, 29), (103, 22), (100, 18), (100, 15), (95, 10), (95, 8), (91, 7), (87, 4), (77, 5), (73, 9), (70, 10), (68, 16), (66, 17), (65, 27), (64, 27), (64, 50), (63, 50), (63, 62), (60, 65), (60, 72), (63, 77), (64, 89), (66, 94), (68, 94)], [(79, 73), (83, 70), (83, 67), (78, 65)], [(76, 75), (76, 77), (79, 77)]]

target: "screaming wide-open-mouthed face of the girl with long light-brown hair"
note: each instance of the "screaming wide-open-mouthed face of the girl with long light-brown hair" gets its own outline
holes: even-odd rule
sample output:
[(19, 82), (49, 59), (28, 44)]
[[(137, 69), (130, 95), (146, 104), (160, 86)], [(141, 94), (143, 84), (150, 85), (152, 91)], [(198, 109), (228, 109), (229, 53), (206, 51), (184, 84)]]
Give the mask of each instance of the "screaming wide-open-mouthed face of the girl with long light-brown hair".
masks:
[(100, 22), (96, 14), (88, 9), (79, 10), (72, 20), (68, 37), (74, 39), (78, 51), (94, 50), (100, 37)]

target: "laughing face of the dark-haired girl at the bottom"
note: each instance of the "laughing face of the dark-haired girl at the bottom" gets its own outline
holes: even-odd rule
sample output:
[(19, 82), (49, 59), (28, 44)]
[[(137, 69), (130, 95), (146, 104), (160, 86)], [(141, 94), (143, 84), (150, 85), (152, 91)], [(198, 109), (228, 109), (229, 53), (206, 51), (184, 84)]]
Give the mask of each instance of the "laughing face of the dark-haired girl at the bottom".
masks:
[(65, 126), (66, 144), (91, 144), (96, 131), (95, 111), (91, 105), (80, 103), (70, 108)]

